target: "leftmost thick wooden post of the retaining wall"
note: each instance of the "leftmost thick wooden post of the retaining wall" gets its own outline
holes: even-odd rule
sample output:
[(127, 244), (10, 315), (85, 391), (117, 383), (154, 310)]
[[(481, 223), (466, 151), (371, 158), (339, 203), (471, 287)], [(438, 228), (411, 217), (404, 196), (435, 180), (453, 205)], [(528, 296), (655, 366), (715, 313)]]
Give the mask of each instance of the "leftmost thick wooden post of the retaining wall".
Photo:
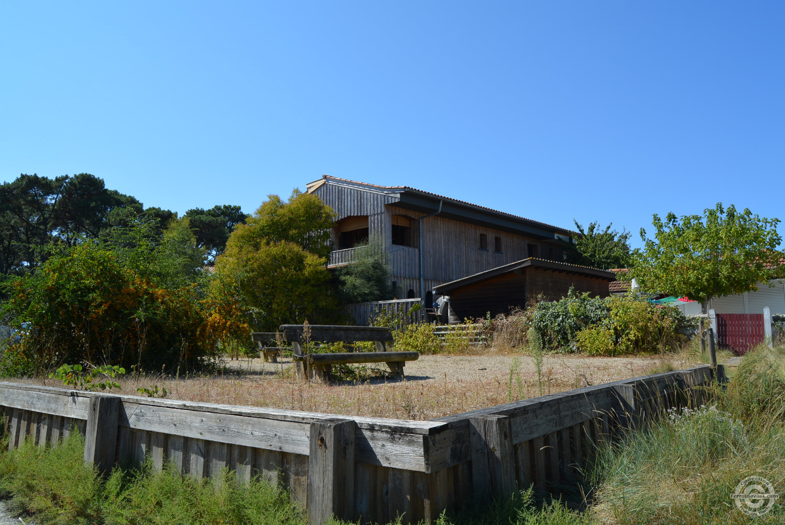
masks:
[(115, 465), (119, 413), (120, 398), (100, 394), (90, 396), (84, 457), (85, 463), (95, 464), (102, 474), (110, 472)]

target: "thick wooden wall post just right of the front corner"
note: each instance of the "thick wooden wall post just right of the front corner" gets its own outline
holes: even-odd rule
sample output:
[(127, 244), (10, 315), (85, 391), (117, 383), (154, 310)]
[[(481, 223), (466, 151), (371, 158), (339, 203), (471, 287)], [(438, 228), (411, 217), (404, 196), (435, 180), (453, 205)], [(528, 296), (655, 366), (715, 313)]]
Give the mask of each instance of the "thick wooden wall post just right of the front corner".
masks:
[(488, 415), (469, 418), (474, 496), (485, 500), (516, 489), (513, 433), (509, 417)]

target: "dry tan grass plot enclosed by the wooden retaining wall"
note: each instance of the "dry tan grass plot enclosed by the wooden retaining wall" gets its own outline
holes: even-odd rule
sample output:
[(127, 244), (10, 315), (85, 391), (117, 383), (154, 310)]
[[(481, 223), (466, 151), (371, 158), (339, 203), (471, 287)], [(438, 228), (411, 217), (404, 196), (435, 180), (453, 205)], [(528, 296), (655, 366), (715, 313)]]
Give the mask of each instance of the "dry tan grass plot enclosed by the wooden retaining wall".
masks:
[[(602, 384), (690, 365), (685, 355), (651, 358), (586, 358), (546, 355), (537, 372), (525, 355), (422, 356), (407, 364), (407, 379), (382, 378), (312, 384), (297, 380), (290, 363), (260, 359), (225, 362), (212, 376), (125, 377), (122, 392), (166, 388), (167, 398), (309, 412), (429, 420), (523, 398)], [(44, 380), (30, 380), (43, 384)], [(46, 384), (53, 386), (52, 380)]]

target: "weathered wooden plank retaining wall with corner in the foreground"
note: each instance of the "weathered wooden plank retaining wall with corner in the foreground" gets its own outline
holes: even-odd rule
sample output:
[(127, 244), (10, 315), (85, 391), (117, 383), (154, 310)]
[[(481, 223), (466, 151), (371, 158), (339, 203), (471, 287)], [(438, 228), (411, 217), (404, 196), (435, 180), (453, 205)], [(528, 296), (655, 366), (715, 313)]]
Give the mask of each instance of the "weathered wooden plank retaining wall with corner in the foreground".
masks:
[(86, 435), (102, 470), (152, 457), (183, 474), (261, 475), (290, 489), (309, 523), (434, 521), (491, 494), (574, 484), (598, 442), (671, 406), (699, 404), (707, 365), (430, 421), (334, 416), (0, 383), (9, 447)]

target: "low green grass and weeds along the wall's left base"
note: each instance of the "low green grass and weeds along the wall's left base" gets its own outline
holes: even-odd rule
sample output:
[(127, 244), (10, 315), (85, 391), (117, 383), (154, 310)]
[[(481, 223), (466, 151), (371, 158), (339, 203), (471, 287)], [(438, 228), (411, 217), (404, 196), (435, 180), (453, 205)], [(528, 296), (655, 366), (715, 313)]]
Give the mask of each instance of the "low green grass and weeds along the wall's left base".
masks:
[[(7, 446), (7, 441), (6, 441)], [(35, 523), (107, 525), (305, 525), (285, 490), (263, 479), (240, 485), (229, 472), (217, 482), (182, 476), (152, 464), (115, 468), (108, 479), (82, 461), (84, 438), (71, 432), (58, 446), (31, 440), (0, 454), (0, 497)]]

